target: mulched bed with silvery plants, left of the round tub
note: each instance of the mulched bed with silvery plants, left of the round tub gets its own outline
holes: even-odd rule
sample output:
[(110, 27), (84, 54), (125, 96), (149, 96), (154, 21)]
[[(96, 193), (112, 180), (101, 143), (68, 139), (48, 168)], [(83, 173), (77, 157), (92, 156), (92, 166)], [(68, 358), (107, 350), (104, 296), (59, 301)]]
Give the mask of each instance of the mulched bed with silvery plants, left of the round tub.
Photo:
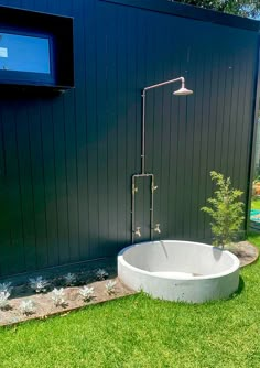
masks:
[[(12, 325), (28, 320), (45, 320), (55, 314), (67, 315), (71, 311), (86, 305), (102, 303), (134, 293), (115, 277), (113, 270), (110, 270), (110, 274), (105, 280), (99, 281), (97, 281), (96, 272), (80, 271), (80, 273), (74, 273), (74, 275), (76, 277), (75, 285), (71, 286), (66, 286), (64, 275), (47, 280), (48, 285), (45, 292), (34, 292), (30, 282), (12, 286), (7, 307), (0, 310), (0, 326)], [(107, 290), (109, 282), (115, 283), (110, 292)], [(80, 295), (80, 290), (84, 285), (89, 289), (93, 288), (93, 295), (88, 300), (84, 300), (83, 295)], [(64, 302), (59, 305), (55, 305), (53, 300), (54, 288), (57, 290), (63, 288)], [(33, 303), (33, 311), (24, 313), (21, 310), (21, 303), (29, 300)]]

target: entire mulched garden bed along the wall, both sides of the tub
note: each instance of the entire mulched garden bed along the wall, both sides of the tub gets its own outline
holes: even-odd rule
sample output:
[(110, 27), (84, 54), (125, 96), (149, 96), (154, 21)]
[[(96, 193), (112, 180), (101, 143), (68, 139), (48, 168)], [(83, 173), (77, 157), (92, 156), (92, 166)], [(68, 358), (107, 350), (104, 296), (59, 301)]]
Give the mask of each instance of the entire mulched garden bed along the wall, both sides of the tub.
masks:
[[(250, 264), (258, 259), (258, 248), (248, 241), (241, 241), (230, 247), (240, 260), (241, 267)], [(102, 303), (106, 301), (119, 299), (126, 295), (134, 294), (132, 290), (123, 285), (117, 278), (116, 264), (106, 266), (108, 274), (105, 280), (97, 280), (97, 269), (82, 268), (74, 273), (75, 285), (67, 286), (65, 277), (67, 273), (52, 274), (46, 277), (48, 285), (45, 292), (35, 292), (32, 290), (29, 278), (22, 280), (20, 284), (14, 284), (11, 290), (9, 303), (4, 310), (0, 310), (0, 326), (12, 325), (28, 320), (45, 320), (48, 316), (61, 314), (67, 315), (71, 311), (84, 307), (86, 305)], [(107, 283), (116, 282), (112, 292), (108, 293)], [(80, 295), (80, 290), (87, 285), (93, 288), (91, 297), (86, 301)], [(64, 303), (55, 305), (53, 301), (53, 289), (64, 288)], [(23, 313), (21, 303), (31, 300), (34, 305), (32, 313)]]

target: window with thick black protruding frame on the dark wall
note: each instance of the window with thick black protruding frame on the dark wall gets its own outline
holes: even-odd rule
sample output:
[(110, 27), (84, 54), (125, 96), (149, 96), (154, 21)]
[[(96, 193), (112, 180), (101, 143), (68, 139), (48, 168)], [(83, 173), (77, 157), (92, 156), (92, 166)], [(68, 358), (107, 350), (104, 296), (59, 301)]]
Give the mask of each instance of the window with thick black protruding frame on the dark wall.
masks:
[(0, 91), (68, 88), (74, 88), (73, 18), (0, 7)]

